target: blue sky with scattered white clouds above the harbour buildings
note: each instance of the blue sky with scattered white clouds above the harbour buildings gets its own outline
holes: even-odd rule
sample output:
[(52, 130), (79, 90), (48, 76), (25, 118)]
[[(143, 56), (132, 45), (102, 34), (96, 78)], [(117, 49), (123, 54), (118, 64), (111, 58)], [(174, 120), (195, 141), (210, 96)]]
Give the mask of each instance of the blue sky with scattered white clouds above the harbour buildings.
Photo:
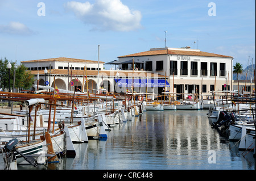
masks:
[(165, 37), (167, 47), (232, 56), (246, 68), (255, 62), (255, 1), (0, 0), (0, 58), (18, 64), (110, 62), (165, 47)]

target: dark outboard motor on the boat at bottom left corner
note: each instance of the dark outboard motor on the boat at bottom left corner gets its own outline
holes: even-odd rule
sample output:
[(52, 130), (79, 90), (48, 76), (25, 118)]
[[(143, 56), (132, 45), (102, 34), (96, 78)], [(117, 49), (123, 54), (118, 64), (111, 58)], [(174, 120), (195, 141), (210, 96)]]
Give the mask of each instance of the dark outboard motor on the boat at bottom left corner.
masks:
[[(6, 150), (7, 154), (6, 157), (8, 158), (7, 160), (9, 160), (9, 162), (13, 162), (16, 158), (16, 155), (21, 155), (28, 163), (30, 163), (32, 166), (36, 167), (38, 166), (38, 163), (36, 161), (35, 158), (31, 157), (31, 156), (26, 156), (23, 155), (22, 153), (20, 153), (20, 151), (18, 151), (16, 149), (16, 146), (18, 145), (19, 140), (14, 138), (13, 140), (10, 140), (4, 147), (4, 149)], [(16, 152), (16, 153), (15, 153)], [(11, 158), (11, 159), (10, 159)]]

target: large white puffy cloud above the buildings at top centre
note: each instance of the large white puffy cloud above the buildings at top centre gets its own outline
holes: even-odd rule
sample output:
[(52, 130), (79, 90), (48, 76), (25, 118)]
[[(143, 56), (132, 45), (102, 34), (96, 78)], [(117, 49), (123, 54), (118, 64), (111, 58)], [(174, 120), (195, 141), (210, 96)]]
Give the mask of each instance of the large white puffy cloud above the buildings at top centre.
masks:
[(92, 24), (93, 30), (133, 31), (141, 28), (141, 12), (131, 11), (120, 0), (96, 0), (94, 4), (71, 1), (64, 7), (85, 24)]

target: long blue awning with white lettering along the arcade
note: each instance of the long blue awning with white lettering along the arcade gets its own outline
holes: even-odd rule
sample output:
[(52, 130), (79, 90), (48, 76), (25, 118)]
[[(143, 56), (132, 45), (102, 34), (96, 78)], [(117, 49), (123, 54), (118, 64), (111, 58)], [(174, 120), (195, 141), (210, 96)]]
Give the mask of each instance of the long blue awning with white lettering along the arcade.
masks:
[[(148, 81), (148, 82), (147, 82)], [(134, 79), (134, 87), (170, 87), (170, 84), (165, 79)], [(131, 87), (133, 86), (132, 78), (115, 79), (117, 86), (119, 87)]]

